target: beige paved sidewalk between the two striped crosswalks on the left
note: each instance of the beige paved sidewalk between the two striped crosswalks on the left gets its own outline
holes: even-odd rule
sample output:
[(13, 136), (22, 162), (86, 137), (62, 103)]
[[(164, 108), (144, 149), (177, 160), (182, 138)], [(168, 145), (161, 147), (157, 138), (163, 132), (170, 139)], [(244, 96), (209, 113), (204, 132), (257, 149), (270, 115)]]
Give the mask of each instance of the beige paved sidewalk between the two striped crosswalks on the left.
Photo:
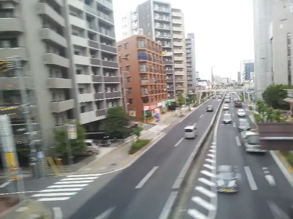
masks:
[[(153, 144), (159, 138), (164, 136), (164, 134), (165, 133), (158, 134), (158, 133), (154, 133), (150, 131), (144, 131), (143, 134), (140, 136), (140, 139), (152, 139), (150, 144)], [(138, 151), (135, 154), (128, 154), (130, 147), (135, 141), (136, 141), (136, 137), (133, 137), (124, 145), (109, 149), (109, 151), (106, 154), (104, 153), (104, 155), (102, 155), (100, 158), (97, 157), (96, 160), (87, 164), (86, 166), (78, 170), (77, 172), (85, 173), (85, 174), (86, 173), (107, 173), (107, 172), (111, 172), (111, 171), (126, 167), (131, 162), (133, 162), (134, 159), (141, 156), (142, 153), (144, 153), (144, 150), (148, 146), (150, 146), (150, 145), (147, 145), (146, 147), (142, 148), (140, 151)]]

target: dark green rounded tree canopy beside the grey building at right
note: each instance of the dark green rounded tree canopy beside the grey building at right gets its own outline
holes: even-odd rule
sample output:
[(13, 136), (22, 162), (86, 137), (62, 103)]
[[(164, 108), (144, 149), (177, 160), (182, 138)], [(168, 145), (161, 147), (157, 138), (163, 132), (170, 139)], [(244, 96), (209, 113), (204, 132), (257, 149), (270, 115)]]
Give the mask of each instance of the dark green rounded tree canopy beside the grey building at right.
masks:
[(274, 109), (289, 110), (288, 103), (283, 101), (287, 97), (285, 89), (289, 89), (289, 86), (283, 84), (269, 85), (262, 94), (266, 104)]

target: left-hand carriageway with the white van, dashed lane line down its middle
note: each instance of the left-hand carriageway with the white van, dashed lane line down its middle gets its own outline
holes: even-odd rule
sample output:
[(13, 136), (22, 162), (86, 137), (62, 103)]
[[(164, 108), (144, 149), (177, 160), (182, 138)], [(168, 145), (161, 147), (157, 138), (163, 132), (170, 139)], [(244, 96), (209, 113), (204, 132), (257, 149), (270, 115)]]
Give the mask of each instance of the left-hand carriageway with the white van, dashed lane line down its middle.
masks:
[[(174, 182), (206, 131), (221, 100), (210, 99), (185, 120), (173, 125), (166, 136), (140, 159), (124, 169), (77, 209), (70, 219), (167, 219), (178, 188)], [(214, 112), (206, 112), (212, 105)], [(184, 128), (198, 127), (199, 137), (184, 139)], [(173, 188), (172, 188), (173, 187)]]

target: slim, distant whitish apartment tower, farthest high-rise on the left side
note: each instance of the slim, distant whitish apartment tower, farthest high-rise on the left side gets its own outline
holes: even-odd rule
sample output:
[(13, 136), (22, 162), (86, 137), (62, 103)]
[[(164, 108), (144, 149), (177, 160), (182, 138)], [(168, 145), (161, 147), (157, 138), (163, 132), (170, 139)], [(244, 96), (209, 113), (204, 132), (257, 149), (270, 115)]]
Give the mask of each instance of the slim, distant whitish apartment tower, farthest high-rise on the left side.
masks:
[(186, 38), (186, 63), (187, 63), (187, 86), (196, 87), (196, 78), (199, 77), (195, 70), (195, 40), (194, 33), (187, 34)]

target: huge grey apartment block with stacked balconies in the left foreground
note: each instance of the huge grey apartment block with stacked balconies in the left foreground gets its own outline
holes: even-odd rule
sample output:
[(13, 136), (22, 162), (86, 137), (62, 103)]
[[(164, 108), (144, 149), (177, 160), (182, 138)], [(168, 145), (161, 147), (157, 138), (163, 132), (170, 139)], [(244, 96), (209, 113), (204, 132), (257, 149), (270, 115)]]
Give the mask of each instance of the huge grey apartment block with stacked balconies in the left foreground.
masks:
[[(52, 146), (54, 128), (68, 119), (99, 128), (107, 108), (121, 105), (112, 1), (7, 0), (0, 5), (5, 15), (0, 17), (0, 60), (21, 58), (42, 146)], [(19, 78), (12, 71), (0, 76), (1, 108), (19, 106)], [(16, 131), (25, 128), (25, 120), (14, 110)]]

